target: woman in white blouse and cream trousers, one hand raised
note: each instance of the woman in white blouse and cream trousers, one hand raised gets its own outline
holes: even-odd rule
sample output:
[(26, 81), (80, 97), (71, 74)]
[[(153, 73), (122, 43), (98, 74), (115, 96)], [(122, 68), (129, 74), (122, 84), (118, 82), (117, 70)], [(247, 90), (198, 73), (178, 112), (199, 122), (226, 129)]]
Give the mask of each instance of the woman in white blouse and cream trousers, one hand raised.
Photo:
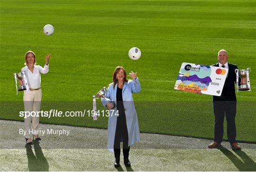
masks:
[[(51, 54), (46, 55), (46, 64), (44, 67), (40, 65), (36, 65), (36, 55), (32, 51), (28, 51), (25, 54), (25, 67), (21, 69), (21, 72), (25, 72), (27, 78), (27, 90), (24, 91), (23, 101), (25, 111), (28, 112), (38, 112), (40, 111), (41, 99), (42, 99), (42, 91), (41, 91), (41, 76), (40, 73), (47, 73), (49, 71), (49, 58)], [(24, 82), (19, 80), (19, 83), (22, 84)], [(32, 130), (31, 130), (31, 121), (32, 121)], [(37, 134), (37, 128), (39, 124), (39, 117), (33, 114), (27, 118), (24, 118), (25, 123), (25, 139), (26, 144), (33, 145), (32, 139), (29, 134), (31, 131), (35, 136), (36, 140), (41, 140), (41, 138)], [(30, 133), (29, 133), (30, 131)], [(33, 137), (34, 137), (33, 136)]]

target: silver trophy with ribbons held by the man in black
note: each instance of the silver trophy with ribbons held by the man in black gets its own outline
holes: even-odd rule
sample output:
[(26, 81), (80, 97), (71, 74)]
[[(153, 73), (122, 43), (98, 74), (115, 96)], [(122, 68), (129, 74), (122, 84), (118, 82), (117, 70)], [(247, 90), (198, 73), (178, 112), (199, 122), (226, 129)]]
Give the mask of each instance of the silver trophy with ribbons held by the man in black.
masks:
[[(250, 88), (250, 78), (249, 78), (249, 73), (251, 72), (250, 68), (247, 69), (236, 69), (235, 70), (236, 74), (237, 74), (237, 91), (251, 91)], [(246, 81), (241, 82), (240, 88), (238, 89), (238, 77), (242, 78), (242, 79), (246, 79)]]

